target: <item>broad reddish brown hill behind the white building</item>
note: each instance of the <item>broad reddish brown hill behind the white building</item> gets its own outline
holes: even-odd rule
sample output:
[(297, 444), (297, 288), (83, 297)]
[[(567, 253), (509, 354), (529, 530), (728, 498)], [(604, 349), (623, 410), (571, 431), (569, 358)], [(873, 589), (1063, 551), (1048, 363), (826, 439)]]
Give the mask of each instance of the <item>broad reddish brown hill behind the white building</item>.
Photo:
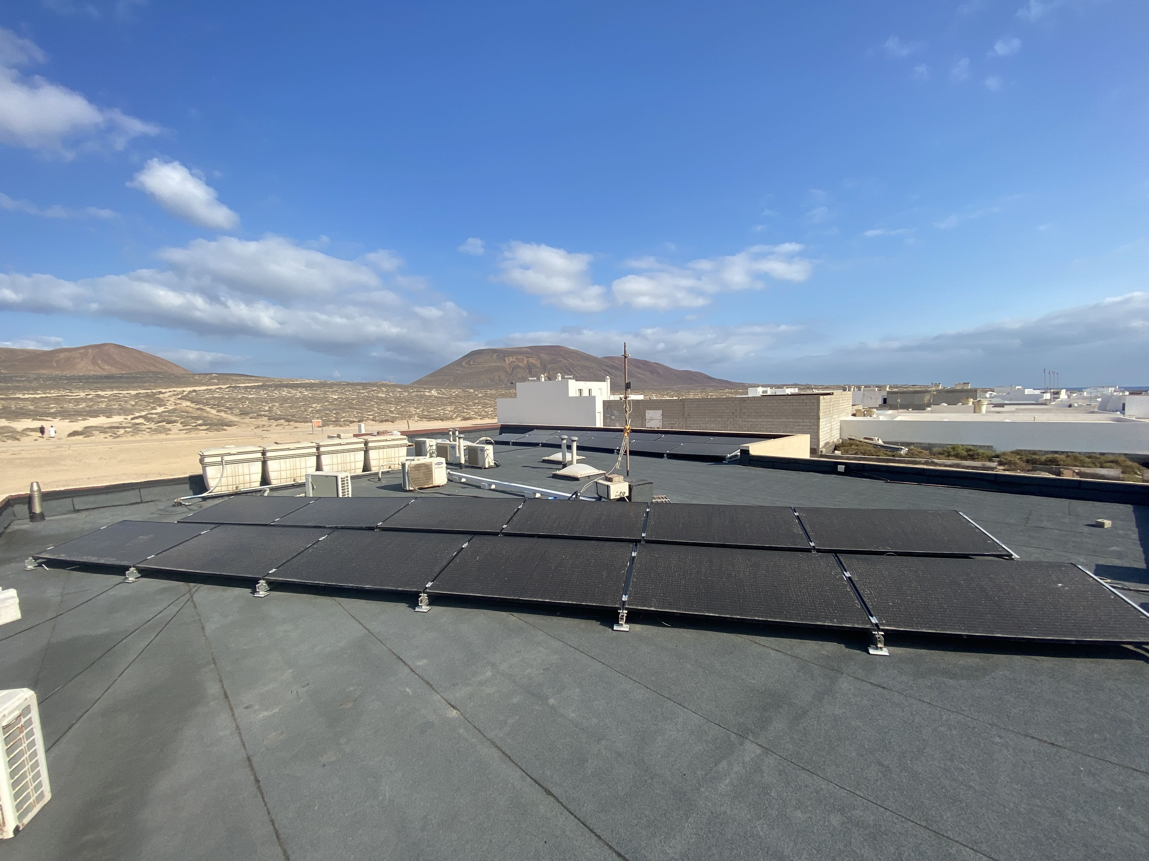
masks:
[[(449, 365), (421, 377), (412, 386), (441, 386), (442, 388), (493, 389), (508, 388), (529, 377), (556, 373), (579, 380), (611, 380), (611, 388), (622, 389), (623, 357), (599, 358), (569, 347), (508, 347), (506, 349), (472, 350)], [(719, 380), (700, 371), (679, 371), (657, 362), (632, 358), (631, 387), (653, 389), (731, 389), (742, 383)]]

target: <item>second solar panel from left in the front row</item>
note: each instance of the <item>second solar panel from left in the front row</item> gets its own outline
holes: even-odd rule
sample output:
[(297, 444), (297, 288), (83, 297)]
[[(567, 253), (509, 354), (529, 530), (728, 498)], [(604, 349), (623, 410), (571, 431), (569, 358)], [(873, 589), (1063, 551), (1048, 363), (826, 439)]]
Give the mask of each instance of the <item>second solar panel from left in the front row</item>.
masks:
[(303, 526), (217, 526), (136, 567), (259, 580), (329, 532)]

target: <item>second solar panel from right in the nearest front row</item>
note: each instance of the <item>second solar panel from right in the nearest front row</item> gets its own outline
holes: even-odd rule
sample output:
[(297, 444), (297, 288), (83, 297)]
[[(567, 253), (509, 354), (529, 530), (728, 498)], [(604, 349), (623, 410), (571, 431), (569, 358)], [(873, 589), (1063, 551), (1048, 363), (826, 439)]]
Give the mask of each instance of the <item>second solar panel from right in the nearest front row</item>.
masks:
[(872, 628), (831, 556), (642, 544), (626, 606), (763, 622)]

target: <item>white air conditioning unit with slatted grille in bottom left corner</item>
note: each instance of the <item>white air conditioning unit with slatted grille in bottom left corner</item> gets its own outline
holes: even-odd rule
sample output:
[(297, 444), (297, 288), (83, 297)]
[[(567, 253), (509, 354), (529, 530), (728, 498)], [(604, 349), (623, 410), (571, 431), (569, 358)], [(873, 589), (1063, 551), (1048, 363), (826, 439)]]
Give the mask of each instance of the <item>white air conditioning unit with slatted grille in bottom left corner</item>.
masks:
[(44, 732), (36, 693), (28, 688), (0, 691), (3, 774), (0, 775), (0, 838), (13, 837), (52, 798)]

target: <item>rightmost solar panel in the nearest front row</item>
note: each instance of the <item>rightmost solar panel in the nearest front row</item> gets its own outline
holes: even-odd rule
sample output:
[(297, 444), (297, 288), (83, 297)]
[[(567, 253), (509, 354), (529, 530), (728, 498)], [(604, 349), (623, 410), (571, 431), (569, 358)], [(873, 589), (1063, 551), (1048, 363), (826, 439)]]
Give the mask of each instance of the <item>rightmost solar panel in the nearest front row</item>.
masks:
[(1149, 642), (1149, 616), (1075, 565), (842, 557), (888, 630)]

